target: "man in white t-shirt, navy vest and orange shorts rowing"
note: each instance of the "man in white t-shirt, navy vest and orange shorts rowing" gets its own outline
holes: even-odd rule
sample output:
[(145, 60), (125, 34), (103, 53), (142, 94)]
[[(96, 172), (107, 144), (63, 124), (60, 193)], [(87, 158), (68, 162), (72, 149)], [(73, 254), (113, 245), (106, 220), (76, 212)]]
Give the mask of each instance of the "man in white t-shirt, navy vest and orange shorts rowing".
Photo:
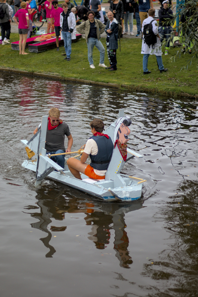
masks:
[[(93, 136), (88, 139), (80, 160), (69, 158), (69, 170), (78, 179), (82, 179), (80, 172), (93, 179), (104, 179), (113, 152), (113, 143), (107, 134), (103, 134), (104, 123), (95, 119), (90, 123)], [(88, 156), (91, 163), (85, 163)]]

